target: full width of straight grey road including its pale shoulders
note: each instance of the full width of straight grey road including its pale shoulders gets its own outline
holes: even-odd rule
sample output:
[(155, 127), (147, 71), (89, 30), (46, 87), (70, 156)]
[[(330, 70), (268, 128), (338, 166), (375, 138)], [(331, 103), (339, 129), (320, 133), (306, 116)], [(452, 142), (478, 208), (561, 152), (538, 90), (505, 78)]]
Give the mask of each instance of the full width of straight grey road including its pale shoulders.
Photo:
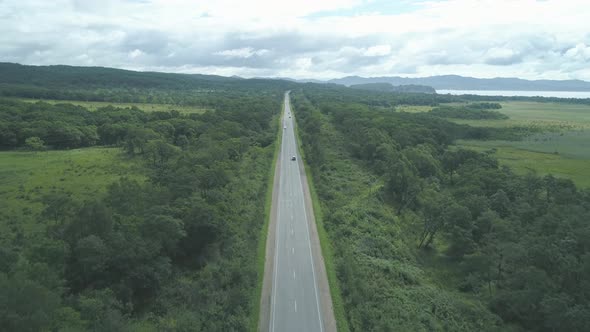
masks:
[[(265, 276), (265, 285), (272, 285), (268, 294), (270, 301), (266, 303), (270, 308), (265, 307), (263, 294), (260, 330), (333, 331), (331, 298), (329, 289), (326, 289), (327, 278), (315, 224), (309, 222), (313, 213), (311, 201), (306, 197), (309, 189), (297, 153), (293, 122), (289, 94), (286, 93), (282, 145), (273, 189), (271, 214), (274, 214), (274, 220), (271, 216), (267, 242), (267, 246), (273, 246), (270, 249), (274, 250), (267, 248), (265, 265), (267, 270), (272, 269), (272, 275), (268, 276), (270, 271), (266, 271)], [(292, 160), (293, 156), (296, 160)], [(268, 262), (271, 259), (269, 254), (274, 256), (272, 262)], [(268, 277), (270, 282), (266, 280)]]

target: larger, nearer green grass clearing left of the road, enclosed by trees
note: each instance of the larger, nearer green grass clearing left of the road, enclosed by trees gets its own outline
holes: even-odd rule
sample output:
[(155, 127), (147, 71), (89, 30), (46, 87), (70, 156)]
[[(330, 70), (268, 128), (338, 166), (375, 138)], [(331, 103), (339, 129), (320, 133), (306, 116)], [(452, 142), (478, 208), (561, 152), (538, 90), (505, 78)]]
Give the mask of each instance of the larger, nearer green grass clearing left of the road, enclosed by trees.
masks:
[(117, 148), (0, 152), (0, 229), (14, 220), (36, 228), (44, 194), (65, 192), (78, 201), (92, 199), (122, 176), (142, 180), (137, 167)]

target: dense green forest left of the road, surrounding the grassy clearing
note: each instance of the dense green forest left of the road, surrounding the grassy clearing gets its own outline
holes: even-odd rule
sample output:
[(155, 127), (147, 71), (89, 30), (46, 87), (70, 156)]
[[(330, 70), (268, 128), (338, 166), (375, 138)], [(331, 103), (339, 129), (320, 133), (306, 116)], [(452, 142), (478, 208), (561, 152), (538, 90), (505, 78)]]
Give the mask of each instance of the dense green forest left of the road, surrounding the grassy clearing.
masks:
[(90, 200), (49, 190), (35, 232), (0, 214), (3, 330), (252, 326), (284, 89), (268, 81), (253, 94), (228, 81), (231, 92), (201, 100), (214, 106), (204, 114), (0, 101), (2, 149), (49, 151), (23, 152), (41, 161), (51, 150), (113, 146), (146, 177), (123, 177)]

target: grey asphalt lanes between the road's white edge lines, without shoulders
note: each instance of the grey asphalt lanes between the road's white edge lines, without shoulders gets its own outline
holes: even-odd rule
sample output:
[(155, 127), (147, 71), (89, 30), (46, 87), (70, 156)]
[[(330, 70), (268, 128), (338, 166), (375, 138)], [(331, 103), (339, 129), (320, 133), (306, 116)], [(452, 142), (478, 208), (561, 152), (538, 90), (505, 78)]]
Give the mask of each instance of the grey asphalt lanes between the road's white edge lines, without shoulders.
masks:
[[(324, 331), (289, 96), (285, 95), (269, 330)], [(291, 158), (296, 156), (297, 160)], [(317, 264), (317, 263), (316, 263)]]

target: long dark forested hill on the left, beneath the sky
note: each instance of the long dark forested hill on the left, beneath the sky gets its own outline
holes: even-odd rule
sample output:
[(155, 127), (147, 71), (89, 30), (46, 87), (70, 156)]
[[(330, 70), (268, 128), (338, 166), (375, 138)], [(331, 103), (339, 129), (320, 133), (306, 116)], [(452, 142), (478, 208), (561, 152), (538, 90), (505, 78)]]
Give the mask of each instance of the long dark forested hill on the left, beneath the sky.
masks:
[(0, 63), (0, 96), (109, 102), (202, 104), (212, 91), (260, 92), (294, 83), (200, 74), (138, 72), (104, 67)]

